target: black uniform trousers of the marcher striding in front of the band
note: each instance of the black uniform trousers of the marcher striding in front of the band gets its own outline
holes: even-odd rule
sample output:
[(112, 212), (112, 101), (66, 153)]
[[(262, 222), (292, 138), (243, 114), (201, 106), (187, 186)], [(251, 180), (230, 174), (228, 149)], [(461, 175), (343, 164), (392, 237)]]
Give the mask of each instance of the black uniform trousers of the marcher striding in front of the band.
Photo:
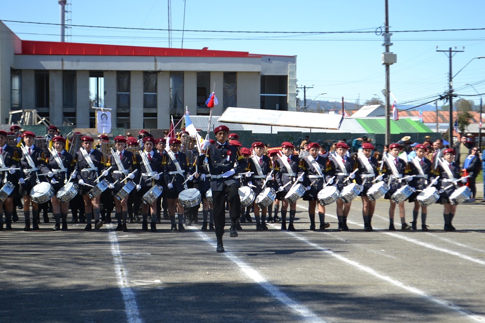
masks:
[(222, 184), (222, 191), (212, 191), (212, 205), (214, 206), (215, 235), (222, 237), (226, 225), (226, 196), (230, 204), (229, 216), (236, 221), (241, 217), (241, 199), (239, 197), (238, 185), (236, 183), (227, 186)]

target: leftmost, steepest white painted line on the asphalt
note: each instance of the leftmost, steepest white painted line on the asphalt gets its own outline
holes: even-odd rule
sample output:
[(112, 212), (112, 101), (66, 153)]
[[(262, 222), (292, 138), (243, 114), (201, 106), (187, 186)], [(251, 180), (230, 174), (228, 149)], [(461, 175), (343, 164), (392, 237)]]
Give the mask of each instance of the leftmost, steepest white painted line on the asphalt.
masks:
[(109, 225), (110, 242), (111, 242), (111, 254), (113, 255), (114, 271), (118, 280), (118, 287), (123, 296), (123, 302), (125, 303), (125, 312), (129, 323), (141, 323), (143, 320), (140, 317), (140, 311), (138, 310), (138, 304), (136, 303), (135, 293), (128, 286), (128, 272), (123, 267), (123, 258), (121, 257), (120, 246), (118, 238), (116, 237), (116, 231), (113, 231), (112, 225)]

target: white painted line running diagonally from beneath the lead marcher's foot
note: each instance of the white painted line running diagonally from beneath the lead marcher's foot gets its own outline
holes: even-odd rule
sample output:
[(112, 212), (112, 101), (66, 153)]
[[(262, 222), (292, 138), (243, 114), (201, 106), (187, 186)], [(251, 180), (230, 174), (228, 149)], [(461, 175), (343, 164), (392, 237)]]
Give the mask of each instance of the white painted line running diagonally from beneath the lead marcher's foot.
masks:
[[(215, 250), (217, 243), (214, 243), (213, 238), (209, 238), (209, 236), (199, 230), (195, 230), (195, 233), (199, 237), (201, 237), (205, 242), (209, 243)], [(261, 286), (264, 290), (270, 293), (272, 297), (282, 303), (284, 306), (291, 308), (293, 312), (295, 312), (298, 316), (301, 317), (301, 321), (303, 322), (325, 322), (320, 317), (318, 317), (311, 309), (308, 307), (298, 304), (294, 300), (292, 300), (287, 294), (280, 291), (276, 286), (271, 284), (268, 280), (266, 280), (261, 274), (258, 273), (257, 270), (251, 268), (245, 261), (242, 259), (234, 256), (230, 252), (225, 252), (223, 254), (229, 260), (234, 262), (239, 268), (241, 268), (242, 272), (246, 274), (249, 278), (254, 280)]]

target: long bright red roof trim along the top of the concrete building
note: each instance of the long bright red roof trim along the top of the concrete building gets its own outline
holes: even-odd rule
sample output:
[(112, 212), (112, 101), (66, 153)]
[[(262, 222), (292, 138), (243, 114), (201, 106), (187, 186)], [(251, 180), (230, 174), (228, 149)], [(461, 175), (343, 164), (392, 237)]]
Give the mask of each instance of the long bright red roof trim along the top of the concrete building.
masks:
[(137, 47), (22, 40), (22, 55), (261, 57), (245, 51)]

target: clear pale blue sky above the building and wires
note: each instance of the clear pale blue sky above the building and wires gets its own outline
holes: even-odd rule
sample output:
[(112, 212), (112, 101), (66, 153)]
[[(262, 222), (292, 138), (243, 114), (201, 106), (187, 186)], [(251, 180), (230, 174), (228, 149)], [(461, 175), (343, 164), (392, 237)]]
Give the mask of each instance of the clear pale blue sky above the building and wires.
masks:
[[(133, 28), (167, 28), (167, 0), (70, 0), (72, 24)], [(484, 28), (485, 1), (389, 0), (391, 31)], [(313, 86), (307, 98), (355, 102), (379, 94), (384, 88), (381, 64), (383, 37), (375, 30), (384, 24), (384, 0), (172, 0), (172, 29), (215, 31), (285, 31), (371, 33), (248, 34), (184, 32), (184, 48), (249, 51), (297, 55), (298, 86)], [(2, 20), (59, 22), (57, 0), (2, 1)], [(21, 39), (59, 40), (58, 26), (5, 22)], [(166, 31), (72, 29), (72, 42), (168, 47)], [(50, 35), (49, 35), (50, 34)], [(172, 32), (173, 47), (181, 47), (181, 32)], [(485, 56), (485, 31), (396, 32), (390, 50), (398, 63), (391, 65), (391, 91), (403, 103), (432, 100), (448, 88), (449, 61), (436, 52), (457, 47), (453, 74), (469, 61)], [(453, 80), (459, 95), (485, 93), (485, 59), (473, 60)], [(300, 94), (303, 98), (303, 95)], [(464, 97), (475, 99), (479, 97)], [(439, 101), (438, 105), (441, 105)]]

